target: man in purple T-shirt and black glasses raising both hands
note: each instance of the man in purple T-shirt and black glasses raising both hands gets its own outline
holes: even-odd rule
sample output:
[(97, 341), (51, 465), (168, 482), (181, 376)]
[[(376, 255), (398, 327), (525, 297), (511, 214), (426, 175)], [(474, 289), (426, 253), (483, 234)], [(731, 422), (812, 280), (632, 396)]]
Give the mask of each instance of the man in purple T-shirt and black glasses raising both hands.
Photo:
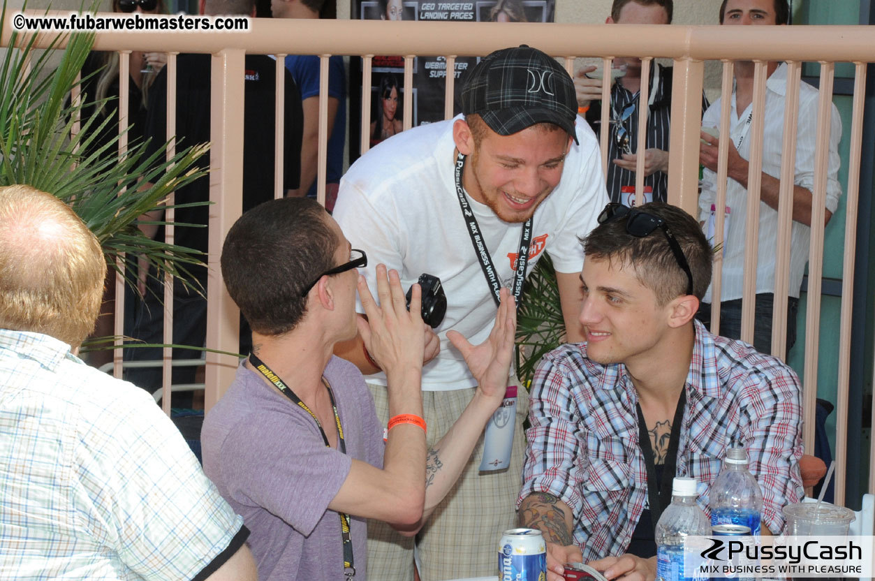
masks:
[[(357, 271), (367, 262), (308, 198), (255, 207), (225, 239), (222, 278), (253, 348), (207, 413), (201, 444), (204, 471), (251, 530), (261, 579), (364, 581), (366, 519), (415, 535), (504, 398), (516, 320), (507, 290), (478, 346), (450, 334), (479, 388), (448, 429), (423, 421), (419, 287), (408, 311), (398, 273), (377, 265), (375, 304)], [(388, 423), (360, 371), (332, 355), (357, 330), (386, 370)], [(440, 432), (430, 448), (426, 429)]]

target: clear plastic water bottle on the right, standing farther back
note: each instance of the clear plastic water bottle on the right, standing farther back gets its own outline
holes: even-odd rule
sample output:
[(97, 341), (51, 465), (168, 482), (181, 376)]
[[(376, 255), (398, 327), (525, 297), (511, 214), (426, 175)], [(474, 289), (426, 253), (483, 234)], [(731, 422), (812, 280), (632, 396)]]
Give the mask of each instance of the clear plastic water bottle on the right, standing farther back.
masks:
[(744, 448), (730, 448), (723, 467), (711, 485), (711, 526), (740, 524), (760, 535), (760, 511), (763, 495), (753, 474), (747, 470)]

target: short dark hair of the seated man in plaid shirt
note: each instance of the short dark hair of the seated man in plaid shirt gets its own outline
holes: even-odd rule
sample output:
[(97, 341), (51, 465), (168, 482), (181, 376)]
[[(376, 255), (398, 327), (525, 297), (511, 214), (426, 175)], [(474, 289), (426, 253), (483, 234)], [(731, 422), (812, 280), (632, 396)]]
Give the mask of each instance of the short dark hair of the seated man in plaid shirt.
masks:
[[(699, 223), (681, 208), (662, 202), (651, 202), (637, 209), (665, 221), (690, 264), (693, 294), (702, 300), (711, 284), (714, 253)], [(626, 224), (627, 217), (623, 216), (594, 228), (583, 241), (586, 258), (617, 261), (620, 266), (631, 265), (638, 281), (654, 291), (656, 302), (661, 306), (685, 295), (687, 275), (678, 265), (662, 228), (639, 237), (629, 234)]]

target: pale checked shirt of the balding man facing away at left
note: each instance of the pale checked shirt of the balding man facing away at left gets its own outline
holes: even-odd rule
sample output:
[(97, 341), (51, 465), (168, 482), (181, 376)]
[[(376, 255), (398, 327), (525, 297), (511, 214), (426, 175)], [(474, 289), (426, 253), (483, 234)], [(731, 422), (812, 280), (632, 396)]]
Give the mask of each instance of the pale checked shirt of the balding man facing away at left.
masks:
[(0, 329), (0, 491), (3, 579), (191, 579), (242, 529), (151, 395), (35, 332)]

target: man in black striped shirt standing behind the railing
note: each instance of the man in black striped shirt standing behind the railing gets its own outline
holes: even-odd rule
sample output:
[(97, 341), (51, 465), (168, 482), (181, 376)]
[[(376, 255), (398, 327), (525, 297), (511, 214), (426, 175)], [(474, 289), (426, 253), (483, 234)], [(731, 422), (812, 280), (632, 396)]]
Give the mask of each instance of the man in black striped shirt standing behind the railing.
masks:
[[(608, 25), (670, 25), (672, 0), (613, 0)], [(624, 27), (612, 27), (622, 36)], [(596, 66), (577, 72), (574, 86), (577, 104), (597, 134), (601, 131), (602, 79), (591, 78)], [(607, 193), (611, 201), (634, 206), (648, 201), (666, 201), (669, 187), (669, 129), (671, 86), (674, 69), (652, 63), (648, 80), (648, 128), (644, 151), (644, 192), (635, 200), (635, 167), (638, 146), (638, 116), (641, 109), (641, 59), (613, 59), (614, 70), (602, 76), (611, 83), (607, 140)], [(616, 80), (614, 80), (616, 78)], [(702, 96), (702, 111), (708, 101)]]

